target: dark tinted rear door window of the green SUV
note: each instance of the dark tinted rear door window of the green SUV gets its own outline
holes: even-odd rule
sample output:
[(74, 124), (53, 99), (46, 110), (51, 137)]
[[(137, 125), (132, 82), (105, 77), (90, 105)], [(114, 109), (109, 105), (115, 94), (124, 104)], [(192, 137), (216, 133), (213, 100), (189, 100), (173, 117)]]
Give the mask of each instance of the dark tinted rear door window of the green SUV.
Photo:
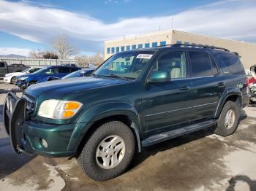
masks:
[(214, 75), (211, 69), (211, 59), (207, 52), (189, 52), (192, 77), (206, 77)]

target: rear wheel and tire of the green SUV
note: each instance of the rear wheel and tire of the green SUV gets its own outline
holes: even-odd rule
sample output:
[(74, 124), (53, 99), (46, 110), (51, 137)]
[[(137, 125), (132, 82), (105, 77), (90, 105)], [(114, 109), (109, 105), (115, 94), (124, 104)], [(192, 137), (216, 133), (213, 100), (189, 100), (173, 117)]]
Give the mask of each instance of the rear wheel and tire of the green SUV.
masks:
[[(233, 111), (233, 112), (230, 112)], [(231, 114), (230, 114), (231, 113)], [(230, 114), (232, 120), (230, 122), (225, 123), (225, 119), (227, 115)], [(238, 119), (240, 117), (240, 106), (237, 102), (227, 101), (227, 103), (223, 106), (222, 112), (217, 120), (217, 127), (214, 130), (219, 136), (230, 136), (235, 133), (238, 128)], [(227, 117), (228, 119), (229, 117)], [(227, 120), (228, 121), (228, 120)]]

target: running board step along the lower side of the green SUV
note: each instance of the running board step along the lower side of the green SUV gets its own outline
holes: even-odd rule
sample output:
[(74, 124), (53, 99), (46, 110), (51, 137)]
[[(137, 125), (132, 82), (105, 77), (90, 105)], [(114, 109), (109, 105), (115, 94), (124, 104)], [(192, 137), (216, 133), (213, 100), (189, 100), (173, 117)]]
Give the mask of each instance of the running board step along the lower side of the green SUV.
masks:
[(208, 120), (208, 121), (199, 122), (199, 123), (196, 123), (193, 125), (188, 125), (183, 128), (177, 128), (177, 129), (165, 131), (164, 133), (160, 133), (160, 134), (157, 134), (154, 136), (150, 136), (147, 139), (144, 139), (142, 141), (142, 146), (148, 147), (152, 144), (157, 144), (159, 142), (166, 141), (168, 139), (173, 139), (178, 136), (183, 136), (185, 134), (192, 133), (197, 130), (210, 128), (210, 127), (213, 127), (214, 125), (216, 125), (216, 122), (217, 122), (216, 120)]

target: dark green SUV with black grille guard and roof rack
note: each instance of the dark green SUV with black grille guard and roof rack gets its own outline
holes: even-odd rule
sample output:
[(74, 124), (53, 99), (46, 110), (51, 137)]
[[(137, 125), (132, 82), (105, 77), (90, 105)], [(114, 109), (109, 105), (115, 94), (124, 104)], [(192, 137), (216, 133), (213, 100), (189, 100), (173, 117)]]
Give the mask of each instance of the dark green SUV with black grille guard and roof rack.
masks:
[(105, 181), (141, 147), (205, 128), (231, 135), (248, 103), (236, 53), (173, 44), (119, 52), (91, 77), (42, 82), (22, 98), (10, 92), (3, 114), (15, 152), (74, 156)]

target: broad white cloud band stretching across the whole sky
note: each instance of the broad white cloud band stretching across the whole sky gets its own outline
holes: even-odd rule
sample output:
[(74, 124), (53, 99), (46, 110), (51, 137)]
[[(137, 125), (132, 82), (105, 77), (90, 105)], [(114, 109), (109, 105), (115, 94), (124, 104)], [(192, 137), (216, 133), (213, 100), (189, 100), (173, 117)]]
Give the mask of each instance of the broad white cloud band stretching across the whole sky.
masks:
[[(221, 36), (256, 42), (255, 0), (219, 1), (196, 7), (176, 15), (138, 17), (104, 23), (86, 14), (54, 7), (37, 7), (26, 1), (0, 0), (0, 31), (33, 42), (50, 43), (58, 34), (83, 47), (85, 51), (100, 51), (102, 41), (171, 28), (211, 36)], [(83, 45), (81, 45), (83, 44)]]

